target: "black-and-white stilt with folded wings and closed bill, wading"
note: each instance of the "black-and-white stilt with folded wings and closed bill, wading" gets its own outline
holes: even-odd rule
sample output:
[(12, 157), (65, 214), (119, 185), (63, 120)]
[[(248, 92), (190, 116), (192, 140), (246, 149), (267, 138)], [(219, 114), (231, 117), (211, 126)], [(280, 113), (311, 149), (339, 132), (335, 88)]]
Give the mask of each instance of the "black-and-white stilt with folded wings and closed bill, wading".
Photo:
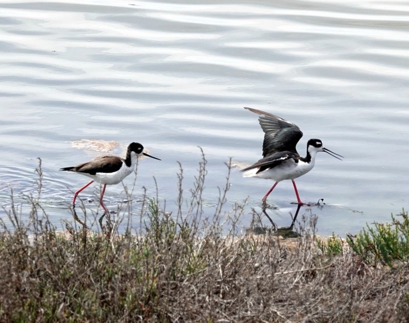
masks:
[(102, 202), (106, 186), (118, 184), (126, 176), (132, 173), (135, 168), (137, 158), (141, 155), (161, 160), (159, 158), (150, 156), (147, 153), (144, 153), (143, 150), (144, 147), (140, 143), (131, 143), (128, 146), (125, 159), (118, 156), (100, 156), (94, 158), (93, 160), (90, 160), (90, 162), (87, 163), (79, 164), (73, 167), (60, 168), (60, 171), (77, 172), (93, 179), (74, 193), (73, 207), (75, 207), (75, 200), (78, 194), (94, 181), (97, 181), (101, 184), (104, 184), (101, 192), (100, 204), (103, 207), (104, 211), (106, 213), (109, 213), (108, 209)]

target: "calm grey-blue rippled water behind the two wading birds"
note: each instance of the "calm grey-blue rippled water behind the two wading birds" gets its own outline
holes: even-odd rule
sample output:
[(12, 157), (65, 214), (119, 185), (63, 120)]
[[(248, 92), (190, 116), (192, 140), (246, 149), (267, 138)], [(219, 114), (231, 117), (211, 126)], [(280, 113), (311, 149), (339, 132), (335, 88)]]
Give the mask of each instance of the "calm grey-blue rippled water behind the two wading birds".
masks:
[[(98, 155), (70, 143), (96, 139), (121, 143), (114, 153), (138, 141), (162, 158), (141, 160), (134, 194), (155, 194), (155, 176), (168, 205), (176, 161), (188, 192), (202, 147), (211, 214), (224, 162), (261, 157), (250, 106), (300, 126), (302, 155), (312, 137), (345, 156), (319, 154), (297, 181), (302, 199), (328, 203), (312, 208), (320, 234), (354, 233), (409, 209), (407, 2), (183, 1), (0, 1), (1, 205), (12, 187), (25, 214), (21, 194), (33, 189), (39, 156), (42, 203), (57, 226), (71, 220), (71, 191), (87, 178), (58, 169)], [(249, 197), (246, 226), (272, 181), (234, 169), (231, 183), (228, 204)], [(108, 207), (122, 191), (107, 189)], [(289, 224), (291, 182), (268, 201), (279, 206), (270, 211), (277, 223)]]

